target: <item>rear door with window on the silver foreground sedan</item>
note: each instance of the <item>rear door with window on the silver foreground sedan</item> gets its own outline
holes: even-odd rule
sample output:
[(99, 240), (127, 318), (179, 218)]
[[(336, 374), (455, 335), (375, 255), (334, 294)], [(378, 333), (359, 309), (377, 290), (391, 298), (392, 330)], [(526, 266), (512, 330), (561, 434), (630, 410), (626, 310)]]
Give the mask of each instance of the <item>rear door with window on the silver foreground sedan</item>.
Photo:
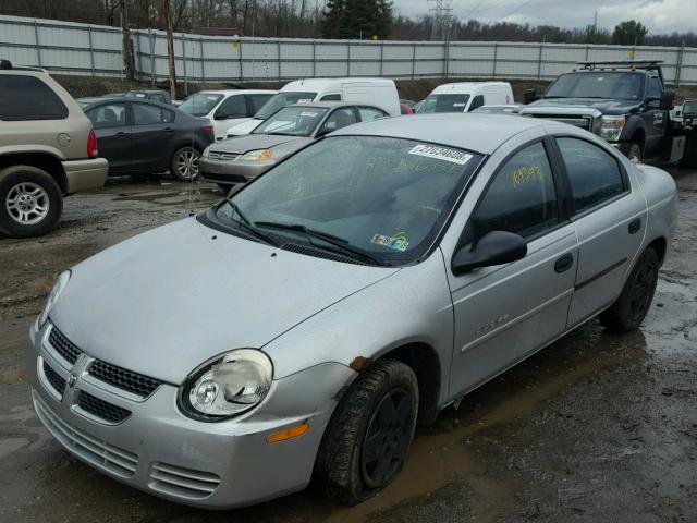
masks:
[(576, 326), (619, 295), (646, 230), (646, 200), (621, 160), (577, 136), (554, 139), (571, 190), (571, 212), (578, 235), (578, 271), (568, 312)]

